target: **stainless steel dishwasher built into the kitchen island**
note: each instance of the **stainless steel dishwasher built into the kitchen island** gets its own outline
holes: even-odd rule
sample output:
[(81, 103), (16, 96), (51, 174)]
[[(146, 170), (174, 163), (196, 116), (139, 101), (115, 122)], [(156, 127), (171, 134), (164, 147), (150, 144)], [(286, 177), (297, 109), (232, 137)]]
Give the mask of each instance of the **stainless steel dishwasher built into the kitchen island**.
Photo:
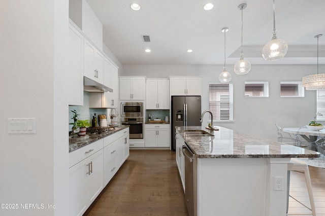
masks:
[[(184, 167), (185, 167), (185, 201), (189, 216), (194, 215), (194, 178), (193, 158), (194, 153), (189, 149), (186, 142), (183, 146)], [(196, 215), (196, 214), (195, 214)]]

